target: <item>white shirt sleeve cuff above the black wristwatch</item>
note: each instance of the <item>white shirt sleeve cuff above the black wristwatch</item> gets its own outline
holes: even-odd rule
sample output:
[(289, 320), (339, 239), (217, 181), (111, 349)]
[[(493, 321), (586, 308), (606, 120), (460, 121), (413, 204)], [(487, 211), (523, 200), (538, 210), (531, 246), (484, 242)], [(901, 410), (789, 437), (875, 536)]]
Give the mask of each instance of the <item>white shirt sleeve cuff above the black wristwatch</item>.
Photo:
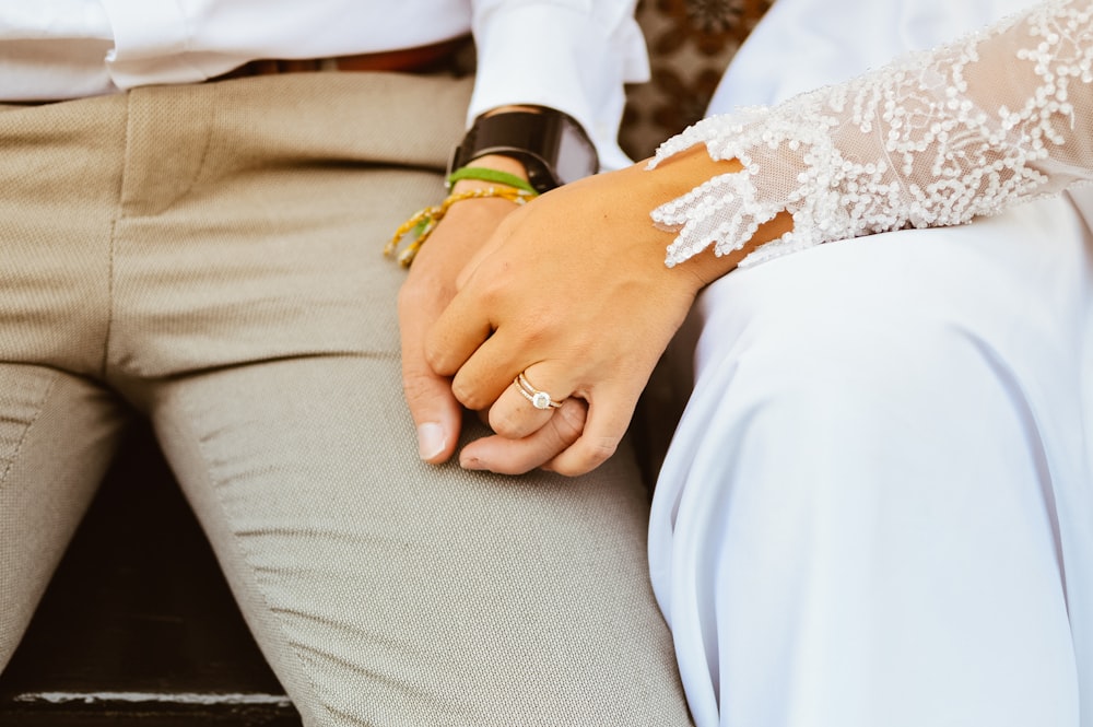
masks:
[(619, 149), (623, 84), (648, 80), (648, 57), (632, 0), (478, 0), (478, 78), (468, 122), (507, 104), (549, 106), (588, 131), (604, 169), (630, 160)]

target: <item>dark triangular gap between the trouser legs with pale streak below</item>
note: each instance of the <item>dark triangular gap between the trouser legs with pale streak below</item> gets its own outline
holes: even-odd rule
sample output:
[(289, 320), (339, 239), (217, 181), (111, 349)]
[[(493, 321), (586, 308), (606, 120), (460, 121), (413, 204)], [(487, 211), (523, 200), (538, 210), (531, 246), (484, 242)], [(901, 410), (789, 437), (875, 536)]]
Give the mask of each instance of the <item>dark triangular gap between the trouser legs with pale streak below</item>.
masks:
[(299, 726), (143, 429), (0, 676), (0, 726), (136, 724)]

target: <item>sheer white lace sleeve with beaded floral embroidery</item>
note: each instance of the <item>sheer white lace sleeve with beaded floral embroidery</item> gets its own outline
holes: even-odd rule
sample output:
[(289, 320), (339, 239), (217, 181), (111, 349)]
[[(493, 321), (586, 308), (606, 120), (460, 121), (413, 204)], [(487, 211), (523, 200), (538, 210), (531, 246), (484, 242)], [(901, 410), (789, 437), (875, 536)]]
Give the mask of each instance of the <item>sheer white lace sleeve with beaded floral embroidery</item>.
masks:
[(654, 210), (678, 233), (669, 267), (740, 249), (784, 210), (794, 231), (741, 267), (1058, 192), (1093, 178), (1093, 1), (1043, 2), (847, 83), (707, 118), (649, 166), (700, 143), (743, 169)]

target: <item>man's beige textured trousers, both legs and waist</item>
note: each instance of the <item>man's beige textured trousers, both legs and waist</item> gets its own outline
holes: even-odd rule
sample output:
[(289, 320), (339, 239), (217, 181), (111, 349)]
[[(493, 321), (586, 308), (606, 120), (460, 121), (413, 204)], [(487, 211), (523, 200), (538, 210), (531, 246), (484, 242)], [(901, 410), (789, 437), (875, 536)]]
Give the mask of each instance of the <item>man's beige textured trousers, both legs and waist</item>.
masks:
[(380, 248), (443, 196), (468, 95), (313, 73), (0, 110), (0, 665), (136, 410), (306, 725), (689, 722), (633, 457), (418, 460)]

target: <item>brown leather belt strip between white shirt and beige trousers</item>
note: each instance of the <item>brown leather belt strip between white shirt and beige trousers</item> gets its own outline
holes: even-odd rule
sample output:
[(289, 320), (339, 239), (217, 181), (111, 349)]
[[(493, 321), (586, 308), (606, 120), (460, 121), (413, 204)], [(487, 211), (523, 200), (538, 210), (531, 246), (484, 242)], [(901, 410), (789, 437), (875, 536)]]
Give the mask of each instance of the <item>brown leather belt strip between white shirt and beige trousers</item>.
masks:
[(470, 43), (470, 36), (461, 36), (427, 46), (361, 54), (357, 56), (302, 59), (267, 58), (244, 63), (223, 75), (218, 75), (210, 80), (222, 81), (249, 75), (275, 75), (278, 73), (305, 73), (313, 71), (401, 71), (404, 73), (432, 73), (451, 69), (453, 61), (458, 51), (469, 46)]

